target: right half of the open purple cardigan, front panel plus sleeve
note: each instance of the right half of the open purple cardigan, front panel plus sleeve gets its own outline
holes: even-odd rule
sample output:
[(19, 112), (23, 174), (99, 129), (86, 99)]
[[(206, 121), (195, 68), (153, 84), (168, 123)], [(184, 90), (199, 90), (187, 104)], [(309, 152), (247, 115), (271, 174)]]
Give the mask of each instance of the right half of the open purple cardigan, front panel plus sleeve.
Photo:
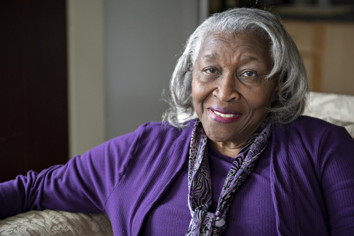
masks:
[(300, 117), (274, 131), (271, 190), (278, 235), (354, 235), (354, 140)]

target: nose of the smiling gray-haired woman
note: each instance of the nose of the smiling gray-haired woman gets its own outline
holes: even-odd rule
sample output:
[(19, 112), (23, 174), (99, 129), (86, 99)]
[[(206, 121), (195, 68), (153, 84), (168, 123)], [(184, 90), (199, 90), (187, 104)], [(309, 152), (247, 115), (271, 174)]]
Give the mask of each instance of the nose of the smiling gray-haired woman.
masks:
[(213, 95), (224, 102), (238, 100), (240, 94), (236, 87), (236, 78), (234, 74), (224, 74), (224, 76), (219, 78), (217, 88), (213, 91)]

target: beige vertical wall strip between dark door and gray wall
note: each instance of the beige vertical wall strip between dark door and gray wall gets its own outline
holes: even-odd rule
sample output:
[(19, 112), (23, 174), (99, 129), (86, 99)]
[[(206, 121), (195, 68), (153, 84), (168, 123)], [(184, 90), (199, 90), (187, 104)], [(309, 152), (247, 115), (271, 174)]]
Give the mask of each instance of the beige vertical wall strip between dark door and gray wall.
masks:
[(67, 0), (69, 158), (105, 141), (103, 0)]

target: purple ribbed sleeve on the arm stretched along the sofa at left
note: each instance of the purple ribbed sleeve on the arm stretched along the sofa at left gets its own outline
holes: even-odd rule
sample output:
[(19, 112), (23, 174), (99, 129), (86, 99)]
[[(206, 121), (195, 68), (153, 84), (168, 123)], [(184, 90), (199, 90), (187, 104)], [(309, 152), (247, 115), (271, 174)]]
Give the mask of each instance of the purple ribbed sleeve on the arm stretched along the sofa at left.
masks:
[(1, 183), (0, 219), (45, 208), (104, 212), (104, 204), (124, 174), (144, 127), (75, 156), (65, 165), (55, 165), (40, 173), (29, 171), (27, 176), (19, 175)]

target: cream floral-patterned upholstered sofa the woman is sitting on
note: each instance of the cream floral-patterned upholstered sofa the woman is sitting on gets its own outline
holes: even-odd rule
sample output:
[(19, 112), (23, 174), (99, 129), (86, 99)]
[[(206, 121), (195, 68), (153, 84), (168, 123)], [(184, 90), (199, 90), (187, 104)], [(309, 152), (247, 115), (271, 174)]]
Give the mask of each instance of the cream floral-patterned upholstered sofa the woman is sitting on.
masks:
[[(304, 115), (343, 126), (354, 138), (354, 96), (310, 92)], [(113, 232), (106, 214), (70, 213), (47, 209), (32, 210), (0, 220), (0, 236), (16, 235), (110, 236)]]

